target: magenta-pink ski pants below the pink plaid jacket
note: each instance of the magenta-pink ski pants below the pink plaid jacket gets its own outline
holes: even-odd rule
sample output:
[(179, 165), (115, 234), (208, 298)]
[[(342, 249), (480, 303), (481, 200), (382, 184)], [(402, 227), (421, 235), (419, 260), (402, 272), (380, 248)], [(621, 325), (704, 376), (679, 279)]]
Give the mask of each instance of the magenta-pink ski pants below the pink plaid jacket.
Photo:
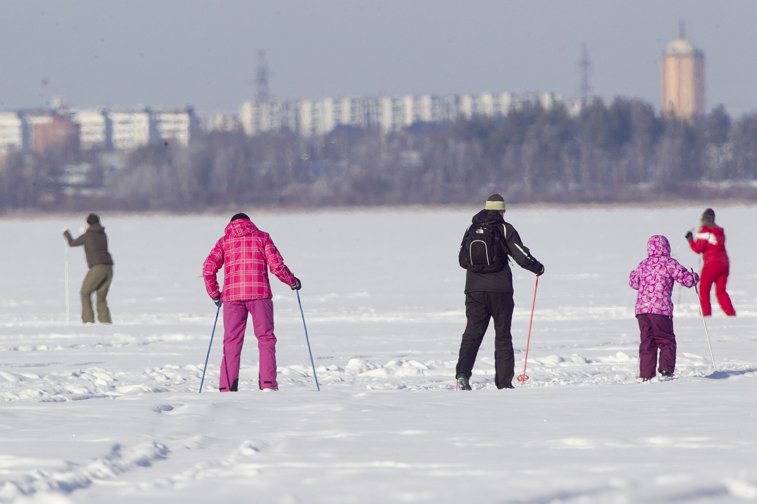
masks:
[(245, 342), (247, 314), (252, 315), (252, 328), (260, 351), (260, 388), (279, 388), (276, 383), (276, 336), (273, 335), (273, 300), (251, 299), (223, 303), (223, 360), (221, 360), (222, 392), (236, 391), (239, 380), (239, 356)]

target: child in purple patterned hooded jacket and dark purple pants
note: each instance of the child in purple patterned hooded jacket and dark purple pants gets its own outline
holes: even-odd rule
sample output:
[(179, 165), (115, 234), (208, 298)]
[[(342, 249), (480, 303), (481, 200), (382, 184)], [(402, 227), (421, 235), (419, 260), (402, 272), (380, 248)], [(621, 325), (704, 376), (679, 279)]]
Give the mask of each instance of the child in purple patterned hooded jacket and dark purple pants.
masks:
[(646, 243), (649, 257), (631, 271), (628, 282), (639, 291), (636, 298), (636, 318), (641, 330), (639, 373), (643, 381), (656, 376), (657, 351), (660, 352), (659, 372), (671, 376), (675, 370), (675, 334), (673, 332), (674, 282), (691, 288), (699, 282), (699, 275), (670, 256), (668, 239), (655, 235)]

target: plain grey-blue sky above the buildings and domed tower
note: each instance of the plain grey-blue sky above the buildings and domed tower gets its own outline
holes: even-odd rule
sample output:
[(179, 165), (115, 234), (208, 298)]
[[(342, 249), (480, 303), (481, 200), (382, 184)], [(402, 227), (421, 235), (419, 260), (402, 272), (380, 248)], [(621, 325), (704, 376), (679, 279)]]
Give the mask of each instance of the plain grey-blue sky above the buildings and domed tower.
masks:
[[(757, 2), (0, 0), (0, 110), (254, 97), (266, 50), (277, 98), (550, 90), (659, 107), (659, 60), (684, 19), (706, 54), (707, 106), (757, 111)], [(48, 79), (48, 88), (42, 87)]]

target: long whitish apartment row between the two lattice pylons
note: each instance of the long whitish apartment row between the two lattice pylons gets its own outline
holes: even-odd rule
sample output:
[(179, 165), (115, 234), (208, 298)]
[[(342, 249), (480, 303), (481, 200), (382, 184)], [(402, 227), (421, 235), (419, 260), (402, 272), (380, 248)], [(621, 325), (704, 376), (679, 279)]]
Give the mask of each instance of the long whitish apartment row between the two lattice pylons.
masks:
[[(415, 122), (450, 122), (475, 115), (506, 116), (512, 108), (540, 104), (550, 108), (559, 94), (549, 91), (481, 94), (421, 94), (403, 97), (343, 97), (322, 100), (245, 101), (238, 123), (247, 135), (288, 128), (303, 136), (324, 135), (340, 125), (399, 131)], [(580, 104), (573, 104), (580, 107)], [(208, 129), (228, 128), (223, 115), (207, 121)]]

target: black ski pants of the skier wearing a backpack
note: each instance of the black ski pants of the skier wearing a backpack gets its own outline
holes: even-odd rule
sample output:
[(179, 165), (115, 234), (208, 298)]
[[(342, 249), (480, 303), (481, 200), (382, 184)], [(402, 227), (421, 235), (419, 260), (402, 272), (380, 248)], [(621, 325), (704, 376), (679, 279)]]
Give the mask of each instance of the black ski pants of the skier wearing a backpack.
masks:
[(478, 348), (484, 340), (489, 319), (494, 317), (494, 384), (505, 388), (515, 376), (515, 354), (512, 351), (512, 292), (469, 292), (466, 294), (466, 318), (468, 325), (463, 332), (455, 376), (460, 373), (471, 377)]

